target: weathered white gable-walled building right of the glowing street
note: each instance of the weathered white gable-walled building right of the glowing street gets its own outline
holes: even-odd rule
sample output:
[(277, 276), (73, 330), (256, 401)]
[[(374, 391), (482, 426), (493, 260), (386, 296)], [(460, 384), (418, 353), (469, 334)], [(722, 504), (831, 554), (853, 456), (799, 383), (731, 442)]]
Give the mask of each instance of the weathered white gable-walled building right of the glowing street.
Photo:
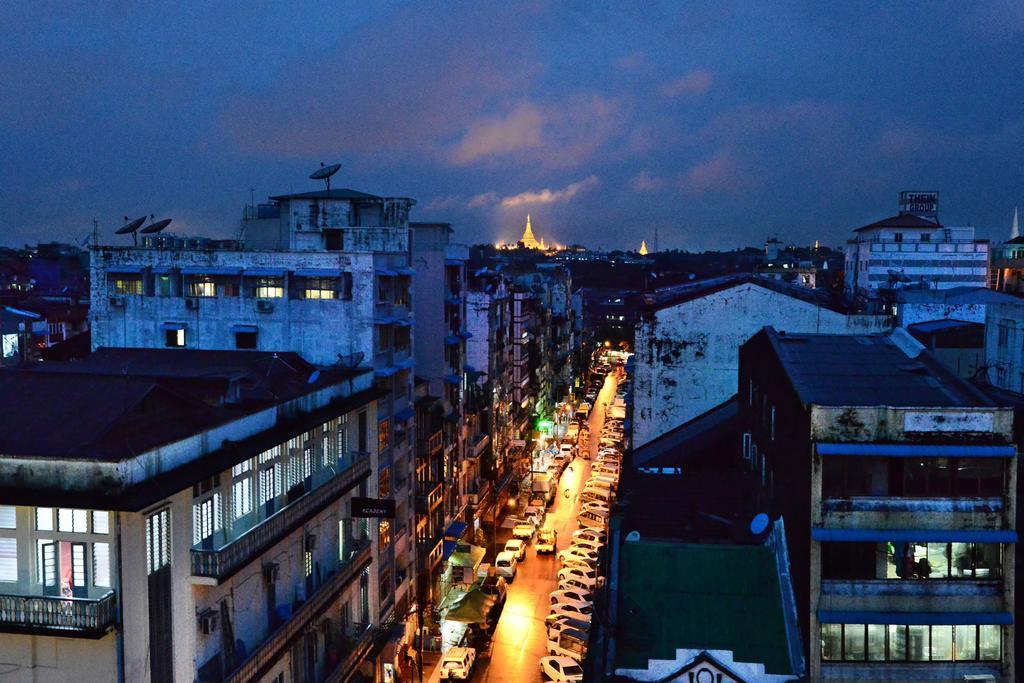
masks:
[(882, 315), (851, 315), (826, 294), (729, 275), (646, 295), (636, 329), (633, 447), (736, 393), (738, 349), (765, 326), (785, 332), (872, 334)]

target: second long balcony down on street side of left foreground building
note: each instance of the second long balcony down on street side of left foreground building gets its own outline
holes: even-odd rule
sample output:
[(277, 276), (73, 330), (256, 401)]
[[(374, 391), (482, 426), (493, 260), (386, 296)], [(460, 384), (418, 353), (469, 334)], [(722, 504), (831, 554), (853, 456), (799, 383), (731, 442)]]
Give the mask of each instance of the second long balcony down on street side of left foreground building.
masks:
[(265, 674), (281, 659), (295, 638), (305, 633), (313, 620), (331, 606), (345, 587), (359, 578), (359, 572), (372, 559), (370, 543), (362, 542), (361, 548), (347, 560), (340, 562), (334, 574), (292, 612), (291, 618), (278, 627), (266, 640), (256, 646), (252, 654), (224, 677), (225, 683), (254, 681)]

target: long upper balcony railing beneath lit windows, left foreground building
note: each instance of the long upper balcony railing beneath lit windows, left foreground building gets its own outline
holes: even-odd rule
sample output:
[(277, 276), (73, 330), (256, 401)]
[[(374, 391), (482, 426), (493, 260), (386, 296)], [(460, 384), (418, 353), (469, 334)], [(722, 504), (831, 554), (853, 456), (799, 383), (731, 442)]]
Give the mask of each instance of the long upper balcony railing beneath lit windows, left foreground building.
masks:
[(216, 579), (218, 584), (223, 582), (368, 476), (369, 454), (358, 454), (357, 460), (347, 469), (227, 545), (216, 550), (193, 548), (193, 575)]

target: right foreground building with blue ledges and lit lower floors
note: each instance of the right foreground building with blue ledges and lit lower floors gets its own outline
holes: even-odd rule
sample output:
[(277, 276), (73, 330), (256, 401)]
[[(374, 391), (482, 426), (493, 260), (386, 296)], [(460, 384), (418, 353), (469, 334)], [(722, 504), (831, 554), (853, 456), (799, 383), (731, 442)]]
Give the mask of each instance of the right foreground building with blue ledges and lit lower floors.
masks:
[(739, 362), (743, 459), (785, 523), (810, 680), (1017, 680), (1013, 410), (902, 330), (769, 328)]

